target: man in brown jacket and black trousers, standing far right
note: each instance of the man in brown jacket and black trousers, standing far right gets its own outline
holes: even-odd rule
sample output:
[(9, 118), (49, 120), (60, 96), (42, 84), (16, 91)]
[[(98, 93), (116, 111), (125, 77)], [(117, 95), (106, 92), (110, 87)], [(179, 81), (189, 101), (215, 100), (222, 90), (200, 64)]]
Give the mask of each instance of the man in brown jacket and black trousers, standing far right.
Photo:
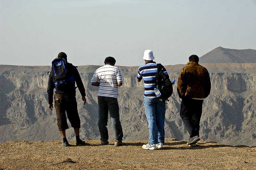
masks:
[(190, 135), (188, 145), (196, 146), (199, 138), (199, 123), (202, 115), (204, 98), (211, 91), (211, 80), (206, 68), (198, 64), (197, 55), (191, 55), (187, 66), (180, 70), (177, 91), (182, 99), (180, 118)]

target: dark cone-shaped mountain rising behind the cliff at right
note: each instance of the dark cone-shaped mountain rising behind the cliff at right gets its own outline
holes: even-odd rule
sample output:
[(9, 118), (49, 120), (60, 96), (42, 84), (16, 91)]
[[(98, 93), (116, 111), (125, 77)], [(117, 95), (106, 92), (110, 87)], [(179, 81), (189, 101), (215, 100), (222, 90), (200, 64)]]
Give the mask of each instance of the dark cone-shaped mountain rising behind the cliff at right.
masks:
[(256, 63), (256, 50), (217, 47), (200, 57), (199, 63)]

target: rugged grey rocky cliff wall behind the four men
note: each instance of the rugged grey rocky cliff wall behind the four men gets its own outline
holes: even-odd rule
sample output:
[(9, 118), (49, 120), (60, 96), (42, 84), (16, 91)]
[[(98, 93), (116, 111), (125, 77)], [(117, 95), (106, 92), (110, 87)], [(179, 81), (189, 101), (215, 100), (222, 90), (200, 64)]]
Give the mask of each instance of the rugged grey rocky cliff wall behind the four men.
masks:
[[(200, 137), (221, 144), (256, 146), (256, 64), (202, 64), (211, 77), (212, 91), (204, 100)], [(165, 66), (171, 79), (178, 79), (184, 65)], [(93, 72), (99, 66), (79, 66), (87, 103), (83, 105), (77, 90), (80, 136), (99, 140), (97, 127), (97, 87), (91, 86)], [(120, 119), (124, 140), (147, 140), (148, 125), (143, 105), (143, 81), (136, 81), (138, 67), (119, 66), (123, 86), (118, 89)], [(48, 109), (47, 83), (50, 66), (0, 65), (0, 142), (10, 140), (60, 140), (55, 111)], [(189, 135), (179, 116), (180, 98), (174, 93), (166, 107), (165, 137), (188, 140)], [(69, 124), (70, 126), (70, 124)], [(114, 139), (108, 121), (109, 140)], [(67, 130), (68, 140), (75, 140), (73, 129)]]

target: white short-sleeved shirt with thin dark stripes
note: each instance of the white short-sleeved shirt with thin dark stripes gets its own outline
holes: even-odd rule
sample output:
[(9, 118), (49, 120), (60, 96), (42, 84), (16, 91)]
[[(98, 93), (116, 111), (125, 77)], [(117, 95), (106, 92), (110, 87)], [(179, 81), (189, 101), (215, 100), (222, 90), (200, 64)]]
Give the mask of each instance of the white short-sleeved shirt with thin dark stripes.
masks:
[(98, 96), (117, 98), (117, 83), (122, 83), (123, 77), (118, 67), (106, 64), (94, 72), (91, 82), (100, 83)]

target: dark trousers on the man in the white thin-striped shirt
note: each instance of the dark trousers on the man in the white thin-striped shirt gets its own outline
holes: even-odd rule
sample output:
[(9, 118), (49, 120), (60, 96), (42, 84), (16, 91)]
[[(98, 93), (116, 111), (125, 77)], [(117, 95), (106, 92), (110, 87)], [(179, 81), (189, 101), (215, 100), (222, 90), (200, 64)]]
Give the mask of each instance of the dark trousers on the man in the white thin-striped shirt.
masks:
[(117, 98), (98, 96), (100, 140), (108, 140), (108, 111), (111, 118), (112, 127), (115, 134), (115, 140), (123, 140), (123, 129), (119, 120), (119, 106)]

